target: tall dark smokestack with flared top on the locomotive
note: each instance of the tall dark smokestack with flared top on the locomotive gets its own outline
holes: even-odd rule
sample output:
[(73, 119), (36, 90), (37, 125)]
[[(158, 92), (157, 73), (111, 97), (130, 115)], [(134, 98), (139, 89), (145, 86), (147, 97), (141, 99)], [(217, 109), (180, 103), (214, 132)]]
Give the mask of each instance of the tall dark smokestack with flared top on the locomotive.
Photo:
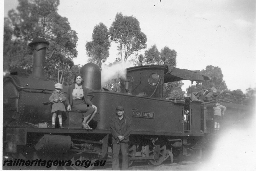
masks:
[(36, 38), (28, 45), (33, 50), (33, 72), (32, 77), (45, 80), (44, 66), (46, 49), (50, 43), (45, 39)]

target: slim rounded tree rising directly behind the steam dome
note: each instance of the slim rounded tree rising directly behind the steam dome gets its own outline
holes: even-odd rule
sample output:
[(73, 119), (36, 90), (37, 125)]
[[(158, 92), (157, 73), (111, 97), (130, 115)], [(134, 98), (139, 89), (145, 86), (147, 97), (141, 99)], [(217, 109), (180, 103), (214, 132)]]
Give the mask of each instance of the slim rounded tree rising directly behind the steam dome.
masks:
[(86, 54), (89, 56), (88, 62), (105, 62), (109, 56), (110, 40), (108, 29), (103, 23), (99, 23), (93, 29), (92, 41), (87, 42)]

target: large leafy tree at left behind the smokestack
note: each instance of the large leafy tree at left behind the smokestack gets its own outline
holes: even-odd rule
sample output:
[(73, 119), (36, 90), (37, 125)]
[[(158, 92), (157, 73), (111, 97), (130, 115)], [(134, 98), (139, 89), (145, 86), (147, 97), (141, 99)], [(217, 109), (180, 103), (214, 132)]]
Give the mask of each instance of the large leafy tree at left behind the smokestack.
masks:
[[(45, 38), (50, 42), (45, 75), (57, 81), (58, 70), (63, 74), (70, 72), (73, 58), (77, 56), (78, 38), (68, 19), (57, 13), (58, 5), (59, 0), (19, 0), (17, 11), (12, 9), (8, 12), (8, 19), (4, 19), (4, 69), (21, 66), (31, 70), (32, 65), (24, 66), (23, 60), (18, 58), (31, 62), (32, 51), (27, 44), (34, 38)], [(12, 63), (10, 59), (14, 59)]]

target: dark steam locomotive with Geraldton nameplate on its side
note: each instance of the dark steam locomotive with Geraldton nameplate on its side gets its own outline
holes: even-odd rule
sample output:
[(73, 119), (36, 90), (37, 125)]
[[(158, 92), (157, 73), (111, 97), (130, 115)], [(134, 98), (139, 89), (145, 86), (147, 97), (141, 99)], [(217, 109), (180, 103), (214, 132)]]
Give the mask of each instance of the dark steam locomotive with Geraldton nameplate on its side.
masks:
[[(121, 93), (101, 87), (100, 67), (85, 64), (80, 71), (83, 88), (98, 111), (90, 122), (93, 130), (82, 128), (82, 113), (66, 112), (64, 129), (52, 129), (48, 99), (54, 82), (44, 76), (44, 60), (49, 42), (34, 39), (33, 72), (13, 70), (3, 80), (3, 154), (23, 159), (55, 158), (111, 161), (110, 119), (116, 106), (122, 105), (132, 119), (129, 144), (129, 164), (148, 161), (160, 165), (177, 156), (197, 155), (204, 149), (205, 113), (201, 102), (190, 103), (189, 122), (184, 122), (184, 101), (164, 99), (163, 85), (167, 82), (209, 78), (196, 71), (169, 65), (137, 66), (127, 69), (127, 79), (121, 81)], [(67, 93), (67, 86), (62, 91)], [(188, 126), (189, 125), (189, 126)], [(92, 168), (90, 166), (88, 169)], [(85, 169), (67, 166), (66, 169)]]

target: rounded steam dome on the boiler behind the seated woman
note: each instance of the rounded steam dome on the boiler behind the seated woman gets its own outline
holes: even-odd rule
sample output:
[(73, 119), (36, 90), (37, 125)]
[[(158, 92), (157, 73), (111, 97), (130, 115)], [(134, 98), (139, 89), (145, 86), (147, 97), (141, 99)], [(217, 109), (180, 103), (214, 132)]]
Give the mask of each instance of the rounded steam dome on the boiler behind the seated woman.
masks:
[(83, 88), (100, 90), (101, 89), (101, 71), (100, 67), (93, 63), (82, 66), (80, 74), (84, 80)]

